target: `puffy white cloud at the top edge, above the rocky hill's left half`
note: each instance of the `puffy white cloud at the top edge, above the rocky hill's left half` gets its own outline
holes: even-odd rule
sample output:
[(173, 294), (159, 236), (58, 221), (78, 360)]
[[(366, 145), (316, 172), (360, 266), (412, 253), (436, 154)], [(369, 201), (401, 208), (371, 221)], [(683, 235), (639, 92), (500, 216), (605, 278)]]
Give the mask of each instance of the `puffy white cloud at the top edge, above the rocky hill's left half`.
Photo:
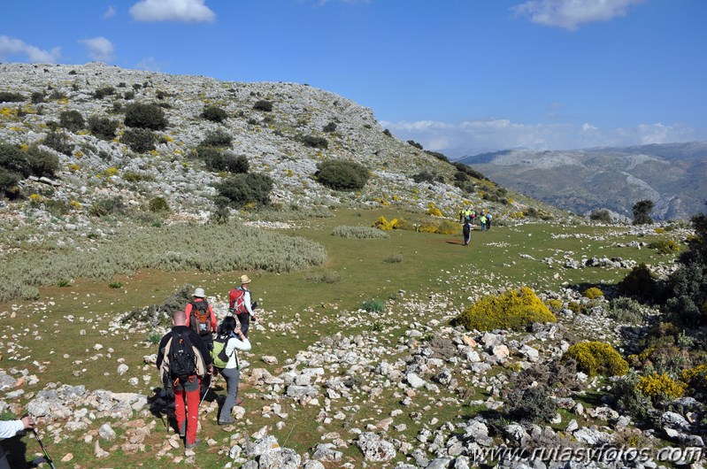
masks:
[(200, 23), (216, 19), (204, 0), (141, 0), (129, 12), (136, 21)]

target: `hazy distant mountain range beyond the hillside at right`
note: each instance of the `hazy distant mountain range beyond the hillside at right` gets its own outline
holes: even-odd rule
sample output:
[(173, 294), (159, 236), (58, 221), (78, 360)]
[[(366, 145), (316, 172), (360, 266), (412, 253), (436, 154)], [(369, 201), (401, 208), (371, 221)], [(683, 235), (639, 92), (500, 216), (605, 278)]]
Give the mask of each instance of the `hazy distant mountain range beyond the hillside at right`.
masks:
[(632, 217), (652, 200), (654, 219), (688, 219), (707, 199), (707, 142), (586, 150), (502, 150), (460, 158), (489, 179), (566, 210)]

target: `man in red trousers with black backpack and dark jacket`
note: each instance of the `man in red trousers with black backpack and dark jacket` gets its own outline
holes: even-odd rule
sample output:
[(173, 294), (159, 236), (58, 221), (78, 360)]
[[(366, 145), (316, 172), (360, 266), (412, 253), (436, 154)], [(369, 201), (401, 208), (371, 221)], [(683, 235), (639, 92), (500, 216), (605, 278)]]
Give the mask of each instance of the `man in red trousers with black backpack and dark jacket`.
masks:
[(159, 341), (158, 370), (167, 390), (174, 393), (174, 414), (185, 448), (199, 444), (199, 382), (206, 373), (213, 373), (211, 355), (199, 334), (187, 326), (184, 311), (175, 311), (172, 330)]

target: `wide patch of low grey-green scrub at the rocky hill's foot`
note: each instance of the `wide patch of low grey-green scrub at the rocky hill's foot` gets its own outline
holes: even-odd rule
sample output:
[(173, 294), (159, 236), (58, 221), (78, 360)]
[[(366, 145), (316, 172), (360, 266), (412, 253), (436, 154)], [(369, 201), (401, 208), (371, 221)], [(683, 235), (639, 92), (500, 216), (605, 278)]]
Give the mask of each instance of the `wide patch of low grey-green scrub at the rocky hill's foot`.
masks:
[(285, 273), (326, 260), (327, 253), (317, 242), (242, 225), (130, 227), (119, 230), (110, 245), (98, 245), (96, 250), (8, 254), (0, 269), (0, 301), (35, 298), (36, 287), (76, 277), (111, 281), (116, 275), (133, 275), (140, 269)]

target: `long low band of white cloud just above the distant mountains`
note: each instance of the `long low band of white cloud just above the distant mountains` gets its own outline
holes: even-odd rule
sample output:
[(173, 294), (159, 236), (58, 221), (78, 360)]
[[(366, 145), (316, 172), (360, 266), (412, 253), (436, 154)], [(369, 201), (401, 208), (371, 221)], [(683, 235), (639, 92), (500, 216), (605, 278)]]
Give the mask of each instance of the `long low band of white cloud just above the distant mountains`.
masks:
[(401, 140), (420, 142), (427, 150), (441, 150), (452, 158), (513, 148), (573, 150), (707, 140), (707, 129), (699, 131), (690, 127), (665, 126), (660, 123), (633, 128), (600, 128), (589, 123), (579, 126), (527, 125), (513, 123), (509, 119), (488, 119), (468, 120), (456, 124), (434, 120), (381, 121), (380, 125), (388, 128)]

